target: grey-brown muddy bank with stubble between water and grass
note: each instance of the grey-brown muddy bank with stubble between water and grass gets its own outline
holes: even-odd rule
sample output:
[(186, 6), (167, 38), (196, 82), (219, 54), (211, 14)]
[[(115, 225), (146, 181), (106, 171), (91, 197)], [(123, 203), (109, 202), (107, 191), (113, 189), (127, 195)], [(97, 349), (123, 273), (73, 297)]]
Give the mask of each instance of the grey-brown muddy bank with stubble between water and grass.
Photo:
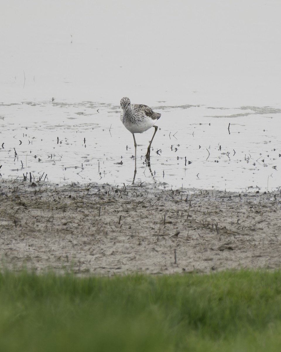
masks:
[(277, 191), (0, 186), (2, 269), (114, 275), (281, 267)]

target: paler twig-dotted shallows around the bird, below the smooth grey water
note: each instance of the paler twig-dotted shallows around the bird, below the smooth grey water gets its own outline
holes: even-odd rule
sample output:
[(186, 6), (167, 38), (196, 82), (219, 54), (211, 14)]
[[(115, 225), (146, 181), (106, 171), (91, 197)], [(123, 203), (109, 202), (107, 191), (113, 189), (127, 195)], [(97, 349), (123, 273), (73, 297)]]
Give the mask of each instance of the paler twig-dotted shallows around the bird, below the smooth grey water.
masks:
[[(0, 104), (1, 176), (50, 182), (148, 183), (157, 187), (272, 190), (280, 184), (281, 109), (155, 106), (151, 130), (132, 135), (106, 103)], [(162, 111), (161, 111), (162, 110)]]

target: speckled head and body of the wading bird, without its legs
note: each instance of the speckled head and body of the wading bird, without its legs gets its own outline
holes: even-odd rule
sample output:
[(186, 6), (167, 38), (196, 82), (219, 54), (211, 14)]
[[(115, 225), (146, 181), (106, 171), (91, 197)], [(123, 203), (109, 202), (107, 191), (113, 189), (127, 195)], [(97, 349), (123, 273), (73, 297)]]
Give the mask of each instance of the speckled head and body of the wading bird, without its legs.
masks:
[(161, 114), (143, 104), (131, 104), (126, 96), (121, 99), (120, 120), (131, 133), (142, 133), (155, 124)]

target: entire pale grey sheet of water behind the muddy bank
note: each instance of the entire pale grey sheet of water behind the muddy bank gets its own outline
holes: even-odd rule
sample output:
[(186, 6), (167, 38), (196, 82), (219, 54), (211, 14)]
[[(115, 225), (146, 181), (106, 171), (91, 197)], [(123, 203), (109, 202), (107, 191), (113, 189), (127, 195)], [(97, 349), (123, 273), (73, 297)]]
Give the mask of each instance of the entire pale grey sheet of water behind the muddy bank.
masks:
[(162, 114), (150, 168), (153, 129), (136, 134), (136, 183), (281, 186), (281, 3), (15, 3), (0, 14), (2, 178), (132, 183), (129, 96)]

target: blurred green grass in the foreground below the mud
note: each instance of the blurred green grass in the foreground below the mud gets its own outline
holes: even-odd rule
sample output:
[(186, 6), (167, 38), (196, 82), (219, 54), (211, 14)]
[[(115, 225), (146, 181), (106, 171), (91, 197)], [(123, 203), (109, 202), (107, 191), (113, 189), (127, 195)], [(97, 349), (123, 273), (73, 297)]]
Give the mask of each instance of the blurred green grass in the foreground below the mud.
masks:
[(281, 271), (0, 274), (0, 351), (280, 351)]

